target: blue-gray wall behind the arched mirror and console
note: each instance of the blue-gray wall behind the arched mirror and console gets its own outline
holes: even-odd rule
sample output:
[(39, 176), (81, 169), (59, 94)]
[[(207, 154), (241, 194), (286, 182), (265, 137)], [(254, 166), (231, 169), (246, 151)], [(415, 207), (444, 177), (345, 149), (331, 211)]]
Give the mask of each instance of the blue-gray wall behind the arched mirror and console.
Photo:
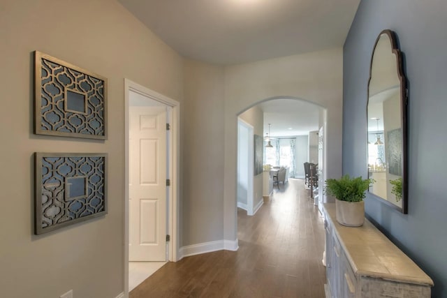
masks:
[(383, 29), (397, 33), (409, 81), (409, 214), (367, 196), (367, 216), (447, 297), (447, 1), (362, 0), (344, 45), (343, 172), (367, 177), (369, 62)]

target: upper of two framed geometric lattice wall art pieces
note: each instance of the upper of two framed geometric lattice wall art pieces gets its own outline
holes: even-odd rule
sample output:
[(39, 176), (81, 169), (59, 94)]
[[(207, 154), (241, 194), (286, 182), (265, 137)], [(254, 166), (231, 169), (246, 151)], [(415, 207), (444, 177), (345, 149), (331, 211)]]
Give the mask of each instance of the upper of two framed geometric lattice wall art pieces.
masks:
[(34, 52), (34, 133), (105, 140), (107, 79)]

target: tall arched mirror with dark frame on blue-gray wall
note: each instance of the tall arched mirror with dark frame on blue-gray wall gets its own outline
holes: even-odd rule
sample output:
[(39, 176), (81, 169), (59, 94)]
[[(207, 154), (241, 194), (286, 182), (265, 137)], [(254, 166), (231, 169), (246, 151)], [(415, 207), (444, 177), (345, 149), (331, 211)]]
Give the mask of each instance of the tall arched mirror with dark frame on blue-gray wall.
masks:
[(406, 77), (395, 33), (384, 30), (374, 45), (368, 84), (369, 188), (381, 202), (407, 213)]

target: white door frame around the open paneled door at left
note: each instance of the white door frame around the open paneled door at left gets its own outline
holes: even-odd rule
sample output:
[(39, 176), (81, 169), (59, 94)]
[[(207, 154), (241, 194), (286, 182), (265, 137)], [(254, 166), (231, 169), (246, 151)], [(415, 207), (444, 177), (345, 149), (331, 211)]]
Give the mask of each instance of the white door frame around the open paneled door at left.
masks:
[(129, 297), (129, 93), (135, 93), (156, 100), (171, 107), (170, 114), (170, 185), (168, 204), (168, 260), (176, 262), (179, 256), (179, 140), (180, 103), (140, 84), (124, 79), (124, 295)]

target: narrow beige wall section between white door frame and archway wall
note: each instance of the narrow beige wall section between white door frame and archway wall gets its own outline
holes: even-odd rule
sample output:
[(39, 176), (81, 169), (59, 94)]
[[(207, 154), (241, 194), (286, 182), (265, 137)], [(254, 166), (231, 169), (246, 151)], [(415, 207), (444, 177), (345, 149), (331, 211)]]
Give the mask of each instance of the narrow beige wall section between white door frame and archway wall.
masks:
[(182, 246), (223, 239), (223, 68), (184, 63)]

